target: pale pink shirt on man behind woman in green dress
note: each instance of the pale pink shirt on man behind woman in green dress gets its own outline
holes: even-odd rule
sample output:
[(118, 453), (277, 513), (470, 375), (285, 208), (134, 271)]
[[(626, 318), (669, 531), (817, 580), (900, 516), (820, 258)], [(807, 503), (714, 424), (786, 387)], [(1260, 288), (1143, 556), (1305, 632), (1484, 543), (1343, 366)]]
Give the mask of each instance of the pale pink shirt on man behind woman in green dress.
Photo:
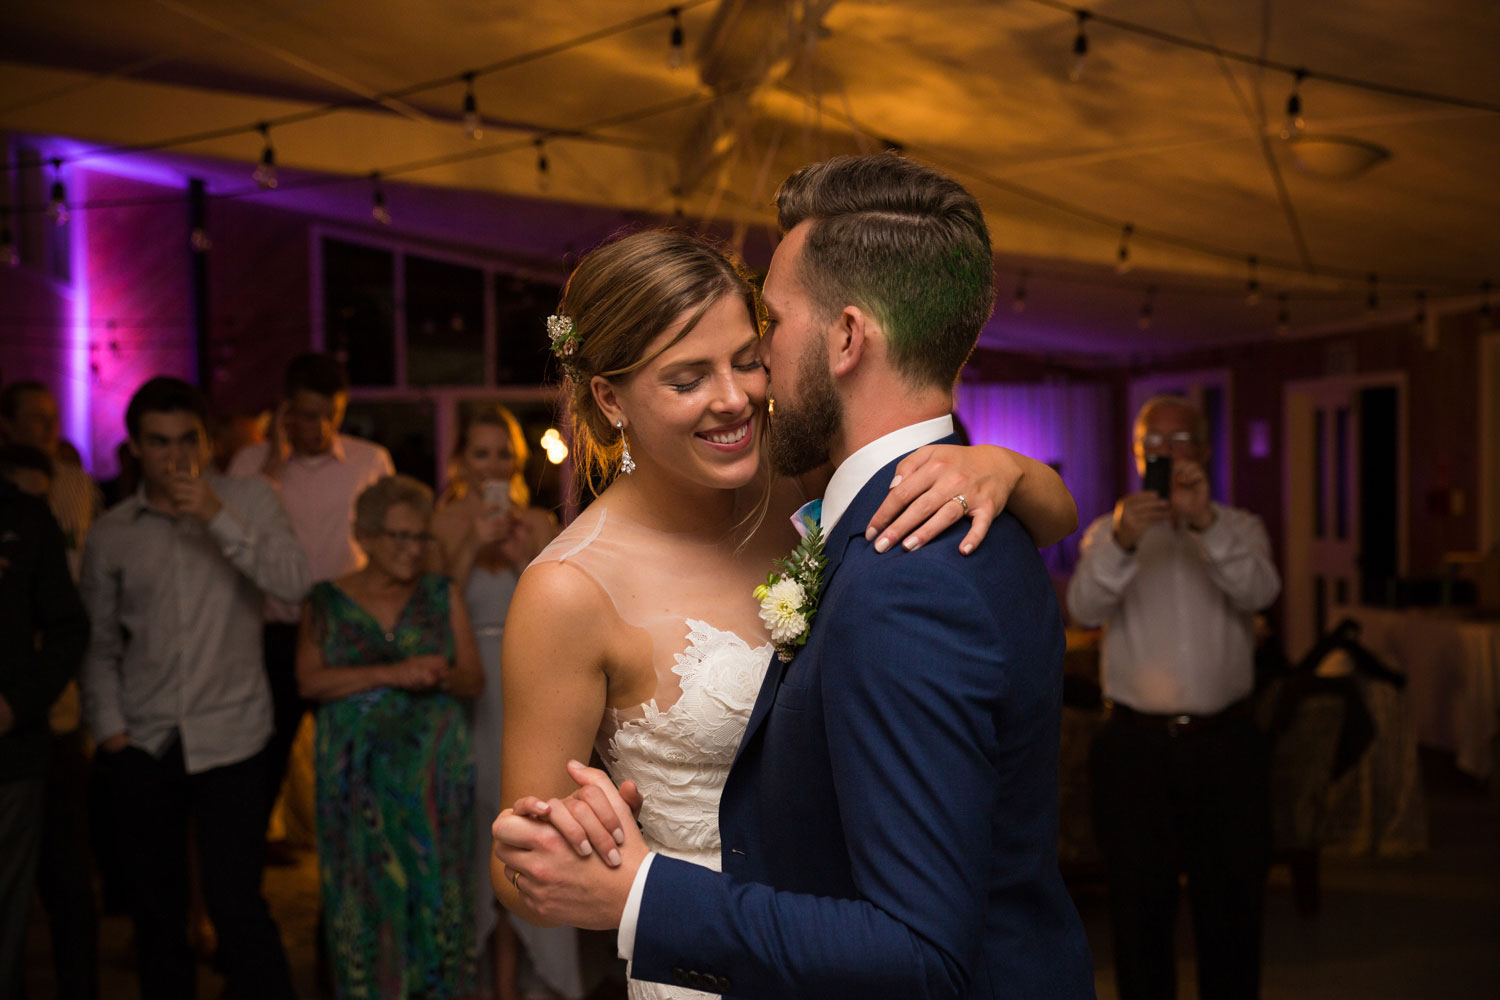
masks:
[[(244, 445), (230, 462), (230, 475), (260, 475), (268, 450), (266, 441)], [(334, 435), (322, 454), (294, 453), (282, 465), (276, 486), (308, 555), (314, 583), (336, 580), (364, 565), (364, 552), (354, 541), (354, 501), (366, 486), (394, 471), (386, 448), (346, 435)], [(266, 619), (296, 624), (302, 621), (302, 609), (267, 600)]]

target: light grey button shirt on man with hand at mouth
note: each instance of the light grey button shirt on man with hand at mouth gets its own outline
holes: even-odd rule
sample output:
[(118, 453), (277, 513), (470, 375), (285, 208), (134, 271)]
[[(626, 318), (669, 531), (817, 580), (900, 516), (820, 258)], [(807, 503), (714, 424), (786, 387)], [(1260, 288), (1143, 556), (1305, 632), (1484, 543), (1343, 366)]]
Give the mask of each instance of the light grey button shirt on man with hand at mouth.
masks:
[(188, 774), (246, 760), (270, 739), (261, 594), (297, 603), (308, 591), (270, 483), (208, 480), (224, 510), (207, 525), (144, 492), (112, 507), (88, 532), (80, 583), (88, 726), (98, 739), (129, 733), (152, 756), (177, 735)]

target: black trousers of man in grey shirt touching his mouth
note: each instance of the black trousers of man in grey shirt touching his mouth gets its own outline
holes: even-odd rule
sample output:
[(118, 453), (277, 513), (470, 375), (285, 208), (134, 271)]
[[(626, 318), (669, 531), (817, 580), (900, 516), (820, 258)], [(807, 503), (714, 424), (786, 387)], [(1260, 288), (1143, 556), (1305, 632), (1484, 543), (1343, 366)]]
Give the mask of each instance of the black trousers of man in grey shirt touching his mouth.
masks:
[(261, 895), (268, 753), (194, 775), (176, 741), (160, 759), (135, 747), (106, 757), (132, 861), (129, 904), (141, 999), (192, 1000), (196, 990), (186, 934), (189, 817), (230, 990), (246, 1000), (294, 997), (280, 933)]

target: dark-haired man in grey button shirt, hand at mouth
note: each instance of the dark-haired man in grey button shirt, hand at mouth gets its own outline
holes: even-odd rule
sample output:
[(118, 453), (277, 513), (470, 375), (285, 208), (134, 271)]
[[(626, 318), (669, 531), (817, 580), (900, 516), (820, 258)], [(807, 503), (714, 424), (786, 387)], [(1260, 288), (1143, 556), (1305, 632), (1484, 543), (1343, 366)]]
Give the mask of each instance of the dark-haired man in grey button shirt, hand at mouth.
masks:
[(192, 997), (188, 819), (208, 916), (237, 997), (292, 997), (261, 895), (272, 700), (262, 594), (300, 601), (308, 565), (262, 478), (213, 474), (202, 394), (146, 382), (126, 409), (141, 489), (94, 525), (84, 711), (112, 772), (144, 997)]

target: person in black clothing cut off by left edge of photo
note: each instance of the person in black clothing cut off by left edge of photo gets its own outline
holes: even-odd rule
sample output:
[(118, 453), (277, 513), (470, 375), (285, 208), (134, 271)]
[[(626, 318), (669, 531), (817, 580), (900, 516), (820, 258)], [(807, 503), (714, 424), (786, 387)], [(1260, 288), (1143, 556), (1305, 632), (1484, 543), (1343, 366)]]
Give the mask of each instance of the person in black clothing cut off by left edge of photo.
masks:
[[(45, 459), (45, 456), (42, 456)], [(24, 994), (26, 934), (42, 849), (48, 706), (88, 636), (46, 502), (0, 477), (0, 994)]]

